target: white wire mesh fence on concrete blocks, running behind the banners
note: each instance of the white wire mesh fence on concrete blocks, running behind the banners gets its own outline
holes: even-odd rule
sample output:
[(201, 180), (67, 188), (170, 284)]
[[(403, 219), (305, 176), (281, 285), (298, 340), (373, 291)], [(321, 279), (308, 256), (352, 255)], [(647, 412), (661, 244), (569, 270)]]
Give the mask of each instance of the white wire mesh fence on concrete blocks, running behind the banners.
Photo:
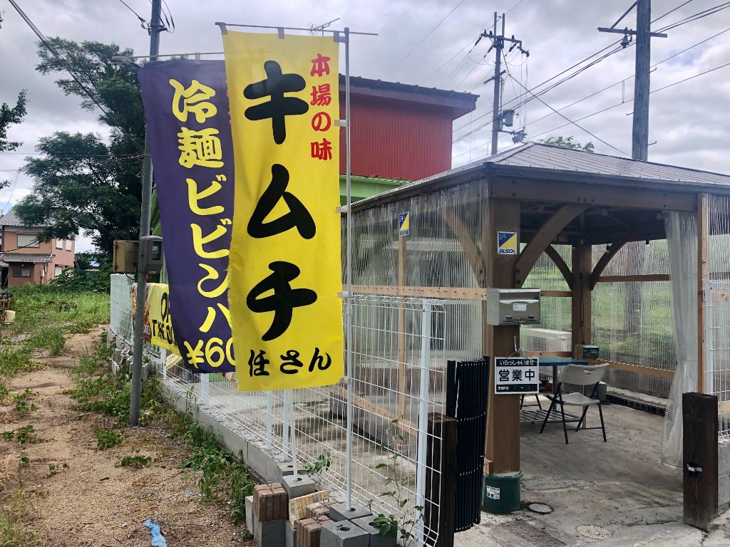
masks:
[[(126, 276), (112, 276), (110, 328), (129, 341), (130, 291)], [(353, 296), (349, 384), (343, 379), (328, 387), (238, 391), (235, 377), (192, 373), (174, 359), (158, 361), (159, 373), (166, 389), (206, 408), (285, 467), (296, 465), (297, 473), (339, 493), (335, 498), (344, 496), (350, 466), (354, 501), (373, 513), (395, 516), (416, 544), (432, 545), (441, 508), (439, 492), (431, 485), (440, 484), (441, 470), (431, 465), (429, 450), (440, 439), (429, 432), (429, 413), (445, 413), (447, 360), (465, 355), (463, 341), (448, 333), (465, 309), (470, 306), (456, 300)], [(348, 395), (353, 405), (351, 459)]]

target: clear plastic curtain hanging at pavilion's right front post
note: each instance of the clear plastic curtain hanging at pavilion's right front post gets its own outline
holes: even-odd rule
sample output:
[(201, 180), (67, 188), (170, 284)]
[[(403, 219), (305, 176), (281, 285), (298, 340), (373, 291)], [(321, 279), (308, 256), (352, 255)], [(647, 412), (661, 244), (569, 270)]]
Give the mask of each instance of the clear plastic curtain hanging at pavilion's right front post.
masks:
[(661, 459), (666, 464), (680, 466), (682, 394), (697, 389), (697, 217), (691, 213), (669, 212), (664, 218), (677, 367), (664, 414)]

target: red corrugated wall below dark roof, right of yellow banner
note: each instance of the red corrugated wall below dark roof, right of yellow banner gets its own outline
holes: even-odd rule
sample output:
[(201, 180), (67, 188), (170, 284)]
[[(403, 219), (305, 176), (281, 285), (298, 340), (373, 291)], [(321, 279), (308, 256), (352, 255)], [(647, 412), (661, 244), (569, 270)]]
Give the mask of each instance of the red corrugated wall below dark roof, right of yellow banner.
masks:
[[(345, 119), (345, 96), (340, 99)], [(353, 93), (352, 172), (361, 176), (418, 180), (451, 168), (449, 109)], [(345, 173), (345, 133), (339, 155)]]

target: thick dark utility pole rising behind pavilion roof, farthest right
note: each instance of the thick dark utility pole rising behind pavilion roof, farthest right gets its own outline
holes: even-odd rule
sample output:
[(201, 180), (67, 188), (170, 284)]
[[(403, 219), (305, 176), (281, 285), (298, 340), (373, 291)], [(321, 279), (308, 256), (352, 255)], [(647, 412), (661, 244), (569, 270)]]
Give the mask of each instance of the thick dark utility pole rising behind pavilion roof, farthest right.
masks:
[[(637, 28), (615, 28), (621, 20), (637, 8)], [(623, 34), (621, 45), (626, 47), (637, 37), (636, 69), (634, 73), (634, 124), (631, 130), (631, 158), (646, 161), (649, 156), (649, 84), (652, 37), (666, 38), (666, 34), (651, 31), (651, 0), (637, 0), (610, 28), (599, 27), (599, 32)]]

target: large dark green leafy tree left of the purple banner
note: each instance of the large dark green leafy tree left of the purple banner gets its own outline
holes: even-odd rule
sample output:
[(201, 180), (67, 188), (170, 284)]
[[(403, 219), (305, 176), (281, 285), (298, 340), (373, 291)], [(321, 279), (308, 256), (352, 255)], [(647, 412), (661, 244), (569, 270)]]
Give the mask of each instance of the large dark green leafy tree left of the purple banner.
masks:
[[(93, 100), (79, 83), (66, 77), (66, 66), (42, 44), (37, 71), (61, 74), (55, 81), (58, 87), (66, 95), (81, 98), (82, 108), (99, 112), (109, 135), (57, 131), (40, 139), (37, 150), (42, 156), (28, 158), (24, 167), (34, 178), (33, 191), (15, 209), (28, 225), (47, 225), (40, 238), (86, 233), (99, 251), (111, 257), (115, 239), (139, 235), (145, 139), (142, 97), (134, 67), (112, 61), (114, 56), (134, 53), (113, 43), (77, 43), (58, 37), (50, 42), (83, 88), (91, 91)], [(107, 112), (101, 112), (97, 102)]]

